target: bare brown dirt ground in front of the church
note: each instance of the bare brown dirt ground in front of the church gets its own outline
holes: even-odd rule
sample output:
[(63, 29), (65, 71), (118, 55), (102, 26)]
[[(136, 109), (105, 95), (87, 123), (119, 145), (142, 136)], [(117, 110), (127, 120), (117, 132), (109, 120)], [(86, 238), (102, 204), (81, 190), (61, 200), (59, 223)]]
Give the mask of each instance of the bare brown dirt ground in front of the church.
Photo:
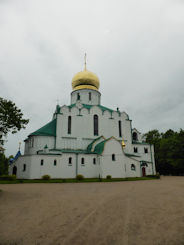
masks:
[(184, 177), (0, 189), (0, 245), (184, 244)]

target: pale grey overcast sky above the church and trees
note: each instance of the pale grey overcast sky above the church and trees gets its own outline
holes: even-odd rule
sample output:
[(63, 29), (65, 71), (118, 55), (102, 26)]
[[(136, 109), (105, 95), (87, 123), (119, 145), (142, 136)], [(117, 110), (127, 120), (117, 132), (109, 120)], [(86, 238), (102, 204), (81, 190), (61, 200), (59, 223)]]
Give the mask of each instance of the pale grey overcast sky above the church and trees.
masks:
[(70, 104), (85, 52), (102, 105), (143, 133), (184, 128), (183, 0), (0, 0), (0, 97), (30, 119), (6, 155)]

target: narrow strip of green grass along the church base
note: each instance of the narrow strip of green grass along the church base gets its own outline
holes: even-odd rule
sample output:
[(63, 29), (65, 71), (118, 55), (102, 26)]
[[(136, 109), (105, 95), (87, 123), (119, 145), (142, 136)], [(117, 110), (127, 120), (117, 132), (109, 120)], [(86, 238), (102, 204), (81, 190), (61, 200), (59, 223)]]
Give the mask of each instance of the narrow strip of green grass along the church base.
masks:
[(112, 178), (112, 179), (99, 179), (99, 178), (84, 178), (83, 180), (76, 179), (17, 179), (17, 180), (0, 180), (0, 184), (23, 184), (23, 183), (87, 183), (87, 182), (117, 182), (117, 181), (138, 181), (138, 180), (152, 180), (158, 179), (156, 176), (152, 177), (133, 177), (133, 178)]

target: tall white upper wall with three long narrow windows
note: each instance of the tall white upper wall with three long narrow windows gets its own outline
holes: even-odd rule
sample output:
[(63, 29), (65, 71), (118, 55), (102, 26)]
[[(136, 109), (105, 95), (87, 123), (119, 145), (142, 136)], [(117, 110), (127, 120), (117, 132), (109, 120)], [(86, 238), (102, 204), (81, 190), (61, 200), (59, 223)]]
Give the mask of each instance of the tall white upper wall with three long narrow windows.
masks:
[[(103, 135), (105, 138), (111, 136), (122, 141), (124, 139), (125, 150), (130, 152), (131, 148), (131, 121), (126, 113), (102, 111), (99, 107), (93, 106), (90, 110), (77, 107), (69, 109), (67, 106), (61, 108), (61, 113), (57, 115), (57, 139), (58, 149), (86, 149), (90, 142)], [(93, 117), (98, 115), (99, 134), (94, 136)], [(68, 134), (68, 116), (72, 117), (71, 134)], [(119, 137), (119, 121), (122, 124), (122, 137)]]

